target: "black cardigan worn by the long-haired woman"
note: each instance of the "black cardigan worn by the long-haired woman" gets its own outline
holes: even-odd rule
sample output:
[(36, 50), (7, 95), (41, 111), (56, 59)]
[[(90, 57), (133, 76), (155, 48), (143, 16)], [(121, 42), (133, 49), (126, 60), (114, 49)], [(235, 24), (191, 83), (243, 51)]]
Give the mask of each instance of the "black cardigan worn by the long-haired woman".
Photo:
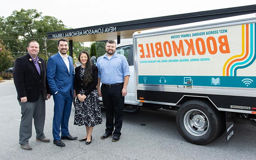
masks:
[(92, 64), (92, 82), (84, 86), (83, 78), (80, 77), (81, 66), (75, 68), (75, 80), (74, 87), (76, 94), (81, 94), (80, 91), (83, 89), (85, 91), (84, 95), (88, 96), (93, 90), (97, 90), (96, 86), (98, 84), (98, 67)]

